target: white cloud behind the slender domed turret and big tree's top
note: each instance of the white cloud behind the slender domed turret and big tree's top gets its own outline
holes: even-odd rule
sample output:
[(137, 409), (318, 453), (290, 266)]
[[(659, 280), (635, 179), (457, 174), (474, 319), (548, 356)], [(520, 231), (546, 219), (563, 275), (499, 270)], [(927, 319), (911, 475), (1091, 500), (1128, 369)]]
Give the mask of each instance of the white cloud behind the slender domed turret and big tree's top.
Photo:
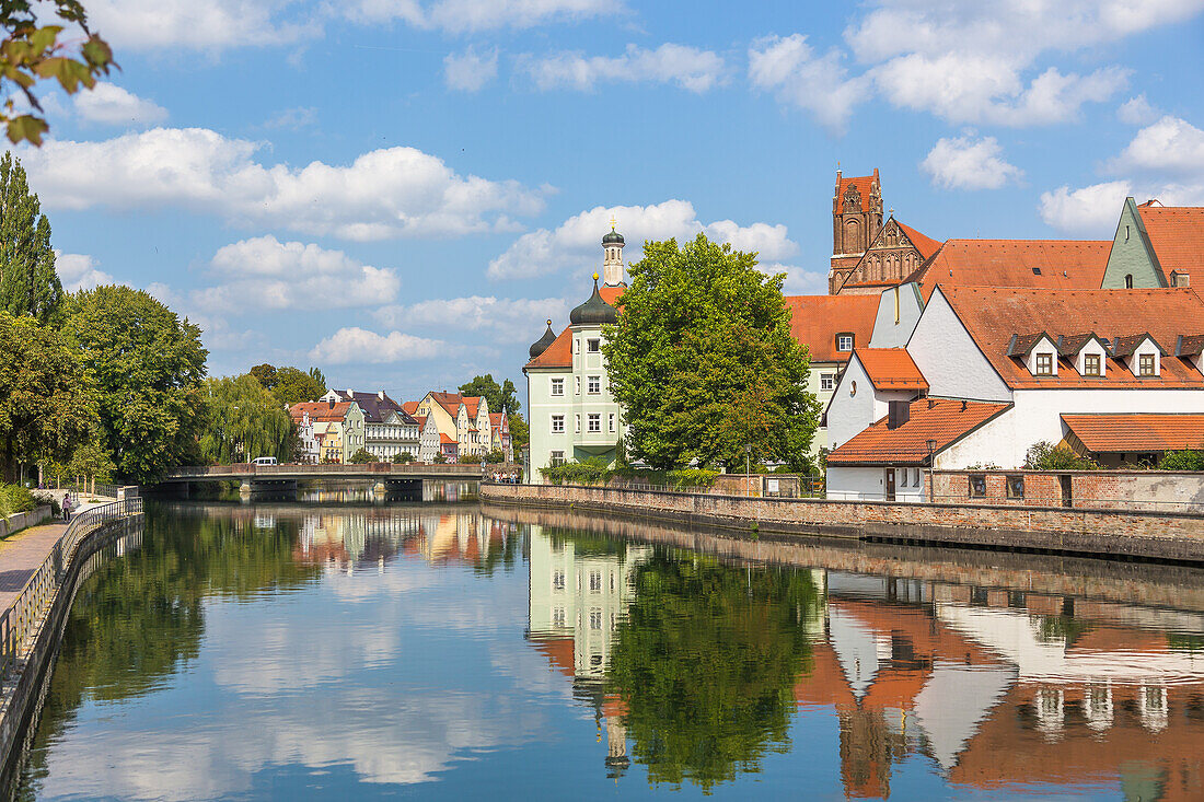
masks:
[(700, 231), (739, 250), (759, 250), (762, 259), (793, 255), (798, 246), (786, 236), (786, 226), (754, 223), (740, 226), (732, 220), (704, 225), (694, 205), (667, 200), (653, 206), (596, 206), (574, 214), (555, 230), (538, 229), (524, 234), (507, 250), (489, 263), (490, 278), (529, 278), (565, 269), (597, 266), (602, 256), (602, 235), (610, 229), (610, 218), (619, 222), (627, 247), (624, 260), (641, 259), (644, 240), (692, 238)]

